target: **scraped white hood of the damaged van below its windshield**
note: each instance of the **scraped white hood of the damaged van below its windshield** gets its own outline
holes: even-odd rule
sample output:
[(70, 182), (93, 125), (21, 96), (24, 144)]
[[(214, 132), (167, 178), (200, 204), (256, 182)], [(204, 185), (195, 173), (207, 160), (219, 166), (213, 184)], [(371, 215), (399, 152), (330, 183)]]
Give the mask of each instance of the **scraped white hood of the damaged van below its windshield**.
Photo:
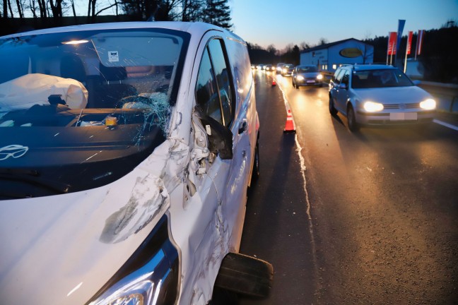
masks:
[(170, 206), (169, 144), (107, 186), (0, 201), (1, 304), (86, 304)]

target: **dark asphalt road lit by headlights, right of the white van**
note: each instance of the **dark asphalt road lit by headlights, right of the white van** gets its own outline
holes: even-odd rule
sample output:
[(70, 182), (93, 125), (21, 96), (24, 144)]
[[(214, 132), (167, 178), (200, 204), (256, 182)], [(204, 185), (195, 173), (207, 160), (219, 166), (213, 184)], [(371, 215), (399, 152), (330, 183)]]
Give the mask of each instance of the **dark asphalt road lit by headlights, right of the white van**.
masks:
[(458, 304), (458, 131), (350, 133), (327, 88), (255, 78), (261, 177), (240, 250), (274, 265), (274, 285), (240, 304)]

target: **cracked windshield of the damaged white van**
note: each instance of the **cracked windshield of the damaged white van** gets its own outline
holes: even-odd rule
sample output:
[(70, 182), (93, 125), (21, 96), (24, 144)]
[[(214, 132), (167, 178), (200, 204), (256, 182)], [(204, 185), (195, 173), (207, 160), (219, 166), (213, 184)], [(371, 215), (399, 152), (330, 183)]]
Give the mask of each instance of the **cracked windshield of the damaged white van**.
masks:
[(0, 199), (131, 172), (165, 140), (188, 42), (158, 29), (0, 40)]

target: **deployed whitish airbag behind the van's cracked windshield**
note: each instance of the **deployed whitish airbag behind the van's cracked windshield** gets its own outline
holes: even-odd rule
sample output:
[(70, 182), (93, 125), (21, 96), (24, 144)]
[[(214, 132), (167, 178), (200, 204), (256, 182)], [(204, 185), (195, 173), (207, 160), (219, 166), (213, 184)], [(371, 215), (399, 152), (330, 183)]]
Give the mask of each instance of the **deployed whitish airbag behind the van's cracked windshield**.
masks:
[(0, 112), (49, 104), (50, 95), (60, 95), (72, 109), (82, 109), (88, 104), (88, 90), (78, 80), (32, 73), (0, 84)]

